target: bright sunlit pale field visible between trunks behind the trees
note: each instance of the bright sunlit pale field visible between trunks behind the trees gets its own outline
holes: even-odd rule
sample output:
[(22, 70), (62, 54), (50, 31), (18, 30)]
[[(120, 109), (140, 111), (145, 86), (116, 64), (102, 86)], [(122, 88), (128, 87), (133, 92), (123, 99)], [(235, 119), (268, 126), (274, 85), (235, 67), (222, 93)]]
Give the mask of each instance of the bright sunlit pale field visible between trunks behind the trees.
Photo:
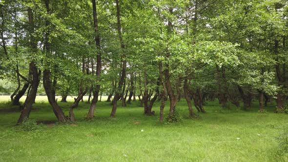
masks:
[[(75, 96), (67, 96), (67, 101), (74, 101), (74, 98), (75, 98)], [(26, 99), (26, 96), (23, 96), (20, 99), (20, 101), (24, 102), (25, 99)], [(56, 96), (56, 99), (58, 99), (58, 101), (61, 101), (61, 96)], [(83, 100), (87, 101), (88, 96), (84, 96)], [(98, 100), (100, 100), (100, 96), (99, 96)], [(102, 101), (106, 101), (106, 100), (107, 100), (107, 96), (102, 96)], [(0, 102), (7, 102), (7, 101), (10, 101), (10, 96), (8, 96), (8, 95), (0, 96)], [(48, 101), (47, 96), (36, 96), (35, 102), (43, 102), (43, 101), (44, 102)]]

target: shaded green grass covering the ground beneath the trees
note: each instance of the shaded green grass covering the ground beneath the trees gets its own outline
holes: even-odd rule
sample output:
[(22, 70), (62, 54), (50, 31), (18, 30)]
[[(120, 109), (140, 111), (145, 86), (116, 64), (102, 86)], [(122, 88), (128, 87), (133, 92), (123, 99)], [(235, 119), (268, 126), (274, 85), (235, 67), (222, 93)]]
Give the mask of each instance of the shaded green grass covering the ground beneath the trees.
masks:
[[(7, 101), (7, 100), (6, 100)], [(59, 103), (65, 114), (71, 102)], [(121, 104), (119, 102), (119, 104)], [(168, 113), (168, 101), (165, 116)], [(22, 131), (15, 126), (19, 112), (0, 112), (0, 162), (10, 161), (201, 161), (201, 162), (271, 162), (277, 157), (275, 137), (288, 124), (288, 115), (251, 111), (222, 110), (219, 104), (208, 102), (207, 113), (200, 119), (189, 119), (184, 100), (178, 103), (183, 121), (159, 123), (159, 106), (155, 116), (144, 116), (138, 101), (119, 105), (116, 119), (110, 119), (111, 105), (97, 103), (96, 117), (85, 121), (89, 104), (75, 109), (75, 124), (48, 124), (34, 131)], [(7, 103), (0, 109), (11, 108)], [(14, 107), (15, 108), (15, 107)], [(56, 121), (49, 104), (37, 102), (30, 118)], [(144, 132), (141, 132), (141, 130)], [(257, 134), (260, 134), (257, 135)], [(237, 140), (236, 138), (240, 138)]]

